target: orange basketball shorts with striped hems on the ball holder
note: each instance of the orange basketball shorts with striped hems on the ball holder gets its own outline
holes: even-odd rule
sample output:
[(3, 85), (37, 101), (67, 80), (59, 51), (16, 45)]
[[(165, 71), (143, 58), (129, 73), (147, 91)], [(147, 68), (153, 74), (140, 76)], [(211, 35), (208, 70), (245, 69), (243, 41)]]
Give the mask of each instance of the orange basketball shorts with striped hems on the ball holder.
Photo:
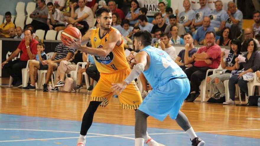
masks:
[[(121, 83), (130, 72), (131, 69), (112, 74), (100, 73), (100, 79), (92, 91), (90, 101), (102, 101), (100, 106), (107, 106), (114, 95), (111, 90), (112, 83)], [(142, 103), (142, 96), (135, 81), (126, 86), (118, 95), (118, 99), (123, 109), (138, 109)]]

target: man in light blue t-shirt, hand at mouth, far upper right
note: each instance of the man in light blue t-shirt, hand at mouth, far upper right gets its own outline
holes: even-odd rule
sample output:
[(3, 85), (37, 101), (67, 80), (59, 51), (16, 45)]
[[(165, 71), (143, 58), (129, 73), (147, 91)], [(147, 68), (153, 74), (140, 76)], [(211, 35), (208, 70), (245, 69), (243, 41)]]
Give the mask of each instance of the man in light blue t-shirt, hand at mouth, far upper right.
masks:
[(231, 29), (231, 38), (237, 38), (240, 36), (243, 24), (243, 14), (240, 10), (236, 9), (236, 5), (233, 1), (228, 2), (228, 10), (226, 16), (226, 27)]

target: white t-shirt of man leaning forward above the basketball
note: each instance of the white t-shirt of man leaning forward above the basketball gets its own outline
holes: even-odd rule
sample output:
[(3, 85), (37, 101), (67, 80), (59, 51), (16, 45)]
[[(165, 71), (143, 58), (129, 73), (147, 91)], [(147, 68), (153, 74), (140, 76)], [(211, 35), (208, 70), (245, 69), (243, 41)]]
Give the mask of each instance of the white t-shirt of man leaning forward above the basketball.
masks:
[(82, 11), (80, 11), (80, 8), (78, 8), (78, 9), (76, 9), (75, 13), (78, 14), (77, 18), (80, 18), (85, 13), (87, 13), (89, 16), (86, 19), (84, 19), (83, 21), (86, 21), (87, 24), (89, 25), (89, 27), (93, 27), (94, 26), (94, 15), (93, 15), (93, 12), (90, 9), (90, 7), (85, 6)]

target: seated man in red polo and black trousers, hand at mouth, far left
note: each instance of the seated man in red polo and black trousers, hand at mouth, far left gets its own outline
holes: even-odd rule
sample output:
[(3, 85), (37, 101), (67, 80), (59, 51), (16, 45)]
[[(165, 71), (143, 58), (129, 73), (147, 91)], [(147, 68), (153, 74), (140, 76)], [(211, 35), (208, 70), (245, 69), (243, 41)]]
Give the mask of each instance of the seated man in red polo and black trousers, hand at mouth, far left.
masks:
[[(22, 87), (22, 68), (26, 68), (27, 61), (35, 59), (37, 54), (37, 40), (32, 37), (33, 32), (29, 29), (25, 29), (25, 38), (20, 42), (17, 49), (2, 63), (4, 68), (10, 76), (13, 77), (13, 88)], [(12, 61), (22, 51), (20, 59)]]

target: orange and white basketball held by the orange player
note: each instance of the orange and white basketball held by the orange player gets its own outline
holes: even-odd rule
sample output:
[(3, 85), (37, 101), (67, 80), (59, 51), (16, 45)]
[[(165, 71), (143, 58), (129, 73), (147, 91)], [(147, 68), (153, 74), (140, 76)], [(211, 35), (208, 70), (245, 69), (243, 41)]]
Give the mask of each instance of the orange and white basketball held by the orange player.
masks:
[(73, 38), (73, 40), (77, 42), (80, 36), (81, 33), (79, 29), (76, 27), (67, 27), (63, 30), (63, 32), (61, 32), (61, 41), (63, 44), (67, 45), (67, 40), (71, 40), (71, 38)]

